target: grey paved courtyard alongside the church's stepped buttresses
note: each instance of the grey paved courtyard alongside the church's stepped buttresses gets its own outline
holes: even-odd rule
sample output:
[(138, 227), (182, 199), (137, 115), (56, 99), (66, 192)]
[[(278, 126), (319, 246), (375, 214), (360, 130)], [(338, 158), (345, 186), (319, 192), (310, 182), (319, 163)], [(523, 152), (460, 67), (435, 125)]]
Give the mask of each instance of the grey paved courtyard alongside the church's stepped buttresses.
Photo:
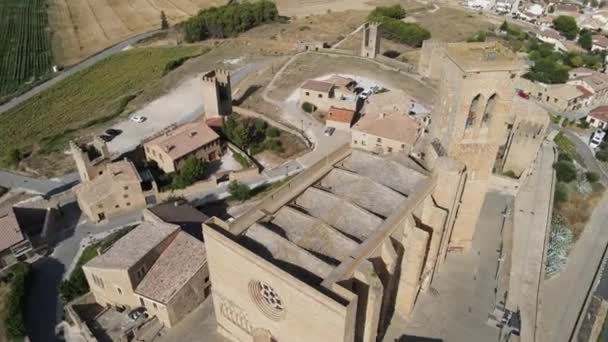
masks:
[(494, 289), (503, 212), (512, 200), (505, 194), (486, 194), (471, 250), (448, 255), (431, 288), (418, 297), (412, 317), (405, 320), (395, 315), (384, 341), (498, 340), (498, 328), (486, 321), (501, 300)]

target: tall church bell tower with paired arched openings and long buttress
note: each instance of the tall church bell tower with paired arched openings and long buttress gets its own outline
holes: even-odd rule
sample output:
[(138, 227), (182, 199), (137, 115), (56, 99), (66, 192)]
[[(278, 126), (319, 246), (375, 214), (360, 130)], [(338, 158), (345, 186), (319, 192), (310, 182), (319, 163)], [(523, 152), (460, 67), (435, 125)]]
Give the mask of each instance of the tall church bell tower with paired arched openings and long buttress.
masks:
[[(466, 166), (467, 179), (450, 238), (452, 250), (466, 250), (485, 198), (498, 150), (505, 144), (514, 81), (524, 65), (498, 43), (436, 44), (429, 70), (440, 68), (439, 103), (431, 134), (447, 156)], [(430, 73), (431, 75), (433, 73)]]

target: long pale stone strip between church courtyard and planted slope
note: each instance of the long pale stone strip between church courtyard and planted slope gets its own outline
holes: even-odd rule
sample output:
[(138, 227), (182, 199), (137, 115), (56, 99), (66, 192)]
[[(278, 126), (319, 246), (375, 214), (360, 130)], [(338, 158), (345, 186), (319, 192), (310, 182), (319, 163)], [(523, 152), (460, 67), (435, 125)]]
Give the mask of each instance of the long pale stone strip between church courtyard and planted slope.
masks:
[(521, 341), (534, 341), (551, 222), (556, 159), (552, 141), (541, 145), (531, 174), (515, 199), (507, 309), (521, 314)]

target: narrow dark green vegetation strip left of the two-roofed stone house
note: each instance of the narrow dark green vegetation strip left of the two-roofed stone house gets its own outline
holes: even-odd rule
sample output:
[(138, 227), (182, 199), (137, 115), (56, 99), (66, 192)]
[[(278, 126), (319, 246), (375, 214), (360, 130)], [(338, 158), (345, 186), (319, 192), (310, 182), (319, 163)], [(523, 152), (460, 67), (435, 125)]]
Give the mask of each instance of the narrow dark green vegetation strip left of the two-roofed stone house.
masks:
[(70, 277), (61, 284), (61, 298), (65, 303), (71, 302), (89, 291), (89, 284), (87, 283), (82, 266), (95, 258), (98, 250), (107, 250), (135, 227), (137, 227), (137, 225), (126, 226), (123, 229), (108, 235), (105, 239), (87, 246), (82, 251), (72, 274), (70, 274)]

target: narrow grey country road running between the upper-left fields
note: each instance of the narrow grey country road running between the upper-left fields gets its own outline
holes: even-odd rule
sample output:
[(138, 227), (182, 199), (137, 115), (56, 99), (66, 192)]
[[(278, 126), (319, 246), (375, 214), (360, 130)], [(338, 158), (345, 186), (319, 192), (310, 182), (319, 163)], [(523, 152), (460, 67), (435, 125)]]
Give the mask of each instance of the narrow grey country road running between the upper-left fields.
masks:
[(39, 84), (39, 85), (35, 86), (34, 88), (30, 89), (28, 92), (26, 92), (26, 93), (24, 93), (24, 94), (22, 94), (20, 96), (17, 96), (15, 98), (13, 98), (11, 101), (9, 101), (9, 102), (7, 102), (7, 103), (5, 103), (3, 105), (0, 105), (0, 114), (2, 114), (4, 112), (8, 111), (9, 109), (12, 109), (12, 108), (18, 106), (19, 104), (21, 104), (21, 103), (23, 103), (23, 102), (31, 99), (32, 97), (40, 94), (41, 92), (43, 92), (46, 89), (52, 87), (53, 85), (55, 85), (55, 84), (61, 82), (62, 80), (66, 79), (66, 78), (68, 78), (70, 76), (72, 76), (73, 74), (75, 74), (75, 73), (77, 73), (77, 72), (79, 72), (81, 70), (84, 70), (84, 69), (86, 69), (86, 68), (88, 68), (88, 67), (90, 67), (90, 66), (92, 66), (92, 65), (94, 65), (94, 64), (96, 64), (96, 63), (98, 63), (98, 62), (100, 62), (100, 61), (102, 61), (102, 60), (104, 60), (104, 59), (106, 59), (106, 58), (108, 58), (108, 57), (110, 57), (110, 56), (112, 56), (112, 55), (120, 52), (120, 51), (122, 51), (124, 48), (128, 47), (129, 45), (135, 44), (135, 43), (137, 43), (138, 41), (140, 41), (142, 39), (145, 39), (145, 38), (148, 38), (150, 36), (153, 36), (154, 34), (156, 34), (158, 32), (160, 32), (160, 30), (155, 30), (155, 31), (150, 31), (150, 32), (145, 32), (145, 33), (141, 33), (141, 34), (135, 35), (135, 36), (133, 36), (131, 38), (128, 38), (128, 39), (126, 39), (126, 40), (124, 40), (124, 41), (122, 41), (122, 42), (120, 42), (120, 43), (118, 43), (118, 44), (116, 44), (116, 45), (114, 45), (114, 46), (112, 46), (110, 48), (107, 48), (107, 49), (99, 52), (96, 55), (93, 55), (93, 56), (87, 58), (86, 60), (84, 60), (84, 61), (82, 61), (82, 62), (80, 62), (80, 63), (78, 63), (78, 64), (76, 64), (76, 65), (74, 65), (72, 67), (70, 67), (69, 69), (66, 69), (66, 70), (62, 71), (61, 73), (59, 73), (57, 76), (51, 78), (50, 80), (48, 80), (48, 81), (46, 81), (46, 82), (44, 82), (42, 84)]

